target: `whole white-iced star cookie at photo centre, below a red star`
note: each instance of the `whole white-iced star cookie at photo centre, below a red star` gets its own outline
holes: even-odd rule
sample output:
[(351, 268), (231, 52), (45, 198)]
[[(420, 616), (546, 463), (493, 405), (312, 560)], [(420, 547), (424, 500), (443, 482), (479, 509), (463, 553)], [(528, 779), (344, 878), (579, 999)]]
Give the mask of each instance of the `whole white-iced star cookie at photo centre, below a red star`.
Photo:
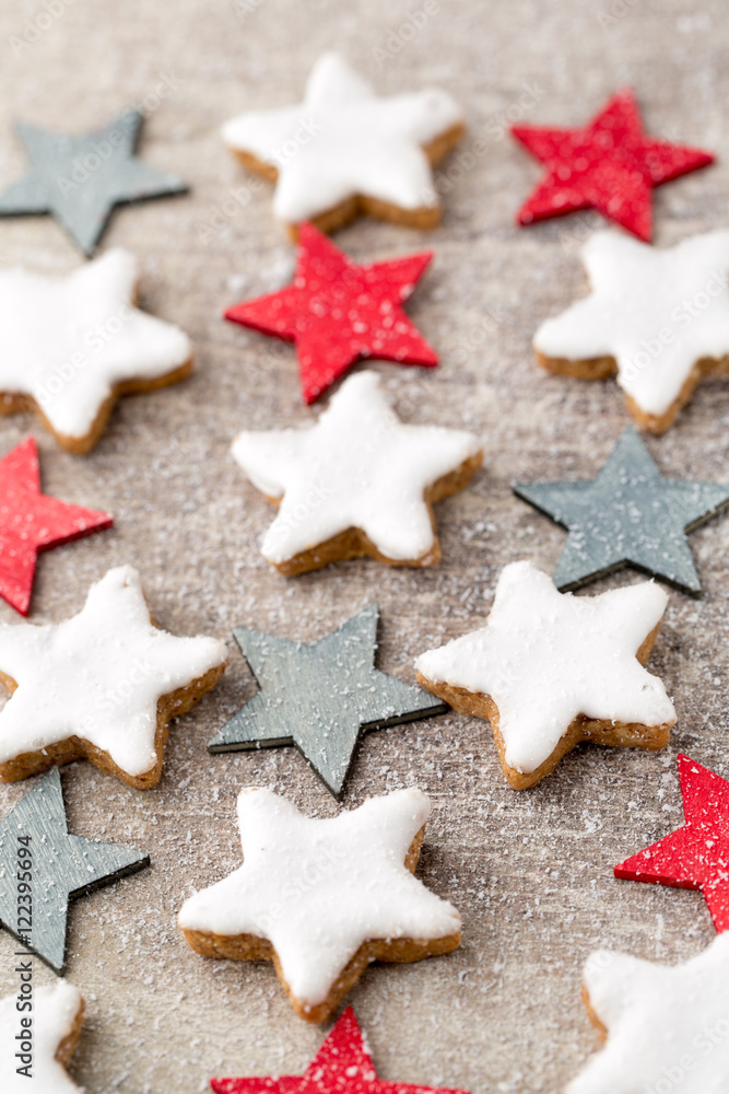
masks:
[(431, 507), (462, 490), (482, 459), (471, 433), (404, 426), (375, 372), (350, 376), (316, 426), (239, 433), (233, 455), (279, 504), (261, 550), (286, 574), (362, 555), (433, 566)]

